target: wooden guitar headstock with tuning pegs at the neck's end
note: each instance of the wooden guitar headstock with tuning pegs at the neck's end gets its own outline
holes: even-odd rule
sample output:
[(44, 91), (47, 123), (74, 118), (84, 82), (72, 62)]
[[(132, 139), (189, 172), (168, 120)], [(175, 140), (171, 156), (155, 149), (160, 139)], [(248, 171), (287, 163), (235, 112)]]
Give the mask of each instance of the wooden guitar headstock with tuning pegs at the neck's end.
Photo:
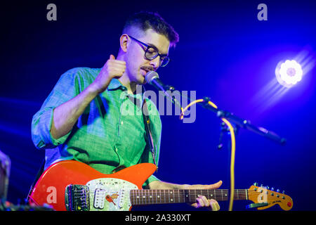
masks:
[[(279, 193), (279, 190), (269, 190), (268, 187), (257, 186), (255, 183), (248, 189), (248, 199), (253, 201), (258, 210), (265, 210), (273, 205), (279, 205), (282, 210), (291, 210), (293, 207), (293, 200), (289, 195)], [(267, 205), (268, 204), (268, 205)]]

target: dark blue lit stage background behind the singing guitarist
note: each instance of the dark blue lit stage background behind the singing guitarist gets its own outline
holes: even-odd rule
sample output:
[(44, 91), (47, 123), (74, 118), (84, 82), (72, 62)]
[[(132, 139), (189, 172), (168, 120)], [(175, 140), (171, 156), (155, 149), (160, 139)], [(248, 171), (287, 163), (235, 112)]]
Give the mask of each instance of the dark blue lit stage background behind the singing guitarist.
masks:
[[(46, 6), (57, 6), (57, 20)], [(258, 4), (268, 6), (259, 21)], [(18, 203), (44, 158), (31, 139), (31, 121), (63, 72), (101, 68), (117, 55), (128, 15), (157, 11), (180, 35), (171, 63), (159, 76), (179, 91), (209, 96), (219, 108), (275, 131), (285, 146), (239, 130), (235, 188), (255, 181), (279, 188), (294, 200), (293, 210), (316, 210), (314, 143), (316, 77), (302, 81), (273, 102), (265, 86), (275, 80), (280, 60), (305, 53), (315, 60), (316, 7), (313, 1), (21, 1), (1, 7), (0, 150), (11, 158), (8, 200)], [(146, 89), (151, 89), (146, 85)], [(271, 90), (270, 90), (271, 91)], [(275, 96), (276, 97), (276, 96)], [(218, 145), (220, 120), (197, 107), (194, 123), (162, 116), (162, 146), (157, 176), (178, 184), (230, 187), (230, 148)], [(234, 203), (245, 210), (250, 202)], [(228, 210), (228, 203), (220, 203)], [(195, 210), (189, 205), (154, 205), (133, 210)], [(269, 210), (279, 210), (275, 206)]]

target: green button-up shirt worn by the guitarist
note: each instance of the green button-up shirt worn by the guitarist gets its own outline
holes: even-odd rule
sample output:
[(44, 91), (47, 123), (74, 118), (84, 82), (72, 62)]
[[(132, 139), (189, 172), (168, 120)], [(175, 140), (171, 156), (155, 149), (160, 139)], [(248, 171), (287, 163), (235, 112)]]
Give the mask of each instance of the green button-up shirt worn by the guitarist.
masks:
[[(111, 174), (117, 168), (154, 163), (141, 110), (144, 95), (127, 94), (118, 79), (112, 79), (107, 89), (91, 101), (68, 134), (59, 139), (51, 136), (54, 108), (86, 89), (99, 72), (100, 69), (91, 68), (65, 72), (34, 115), (32, 140), (37, 148), (46, 150), (45, 169), (60, 160), (78, 160)], [(162, 122), (156, 105), (147, 98), (146, 102), (158, 163)], [(144, 186), (155, 180), (156, 176), (150, 176)]]

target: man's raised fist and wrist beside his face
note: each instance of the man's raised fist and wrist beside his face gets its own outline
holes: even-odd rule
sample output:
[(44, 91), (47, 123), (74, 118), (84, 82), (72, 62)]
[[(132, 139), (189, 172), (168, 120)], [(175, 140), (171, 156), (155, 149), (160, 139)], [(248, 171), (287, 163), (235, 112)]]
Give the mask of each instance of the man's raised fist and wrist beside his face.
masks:
[(101, 69), (98, 77), (92, 83), (94, 89), (98, 94), (102, 93), (107, 89), (113, 78), (121, 77), (126, 69), (126, 63), (123, 60), (116, 60), (113, 55), (107, 60), (103, 68)]

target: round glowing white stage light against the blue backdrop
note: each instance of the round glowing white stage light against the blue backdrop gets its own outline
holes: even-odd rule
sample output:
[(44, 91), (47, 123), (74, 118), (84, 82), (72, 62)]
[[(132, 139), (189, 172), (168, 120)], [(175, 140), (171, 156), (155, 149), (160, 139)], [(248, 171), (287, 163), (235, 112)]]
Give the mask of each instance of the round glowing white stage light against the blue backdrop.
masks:
[(277, 64), (275, 76), (279, 84), (290, 88), (301, 81), (303, 70), (296, 60), (285, 60), (285, 62), (281, 61)]

